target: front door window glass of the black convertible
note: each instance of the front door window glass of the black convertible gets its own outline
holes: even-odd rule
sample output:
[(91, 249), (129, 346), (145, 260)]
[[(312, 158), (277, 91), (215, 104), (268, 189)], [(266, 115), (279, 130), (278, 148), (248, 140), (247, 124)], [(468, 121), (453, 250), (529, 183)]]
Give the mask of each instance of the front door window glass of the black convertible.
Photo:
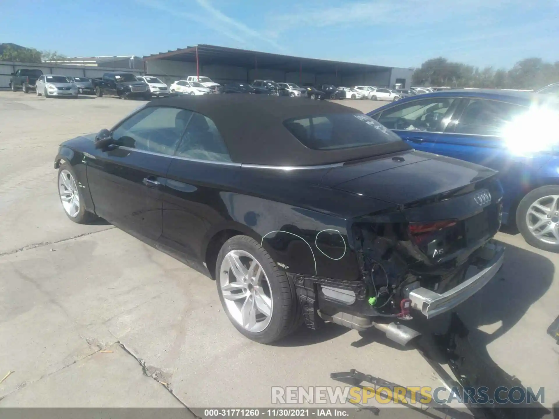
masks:
[(116, 128), (112, 137), (116, 145), (172, 156), (191, 116), (186, 109), (144, 108)]

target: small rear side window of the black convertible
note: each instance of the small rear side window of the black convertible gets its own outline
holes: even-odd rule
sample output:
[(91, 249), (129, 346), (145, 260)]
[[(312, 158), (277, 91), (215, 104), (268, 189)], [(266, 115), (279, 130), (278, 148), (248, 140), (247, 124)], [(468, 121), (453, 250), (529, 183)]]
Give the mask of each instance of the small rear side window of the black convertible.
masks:
[(193, 113), (175, 155), (197, 160), (231, 161), (214, 121), (200, 113)]

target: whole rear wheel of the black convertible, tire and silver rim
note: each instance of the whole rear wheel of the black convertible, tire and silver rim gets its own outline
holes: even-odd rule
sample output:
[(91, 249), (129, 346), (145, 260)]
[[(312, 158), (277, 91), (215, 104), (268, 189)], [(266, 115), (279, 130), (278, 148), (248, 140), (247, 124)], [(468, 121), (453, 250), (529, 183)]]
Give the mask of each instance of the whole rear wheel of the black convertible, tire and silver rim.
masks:
[(234, 236), (225, 242), (215, 278), (225, 313), (249, 339), (269, 344), (301, 325), (295, 284), (252, 237)]

